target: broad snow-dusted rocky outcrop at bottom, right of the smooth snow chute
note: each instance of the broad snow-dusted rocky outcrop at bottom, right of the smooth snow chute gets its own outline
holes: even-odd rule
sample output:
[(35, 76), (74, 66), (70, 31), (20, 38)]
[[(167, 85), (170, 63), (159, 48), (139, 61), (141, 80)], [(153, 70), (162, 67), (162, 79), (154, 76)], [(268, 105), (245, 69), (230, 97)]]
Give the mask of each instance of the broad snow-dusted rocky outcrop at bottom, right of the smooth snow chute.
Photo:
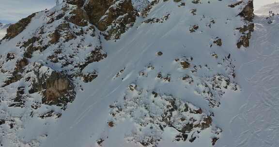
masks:
[[(126, 141), (140, 143), (144, 147), (156, 147), (167, 130), (173, 131), (173, 142), (194, 142), (209, 129), (212, 145), (222, 132), (214, 125), (211, 116), (206, 115), (201, 108), (171, 95), (155, 91), (149, 93), (135, 84), (128, 86), (121, 102), (115, 102), (109, 107), (109, 127), (117, 127), (123, 120), (129, 119), (139, 129), (131, 130), (125, 136)], [(149, 133), (144, 133), (147, 130)]]

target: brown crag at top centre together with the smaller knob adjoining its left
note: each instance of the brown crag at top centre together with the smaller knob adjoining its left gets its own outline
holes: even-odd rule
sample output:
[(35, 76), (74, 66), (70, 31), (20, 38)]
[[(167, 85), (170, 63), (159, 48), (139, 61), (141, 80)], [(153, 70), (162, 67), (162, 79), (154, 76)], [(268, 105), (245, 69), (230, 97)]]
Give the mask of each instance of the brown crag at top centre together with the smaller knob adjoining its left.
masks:
[(119, 39), (136, 21), (137, 10), (131, 0), (67, 0), (78, 7), (71, 12), (69, 21), (78, 26), (88, 22), (103, 32), (107, 40)]

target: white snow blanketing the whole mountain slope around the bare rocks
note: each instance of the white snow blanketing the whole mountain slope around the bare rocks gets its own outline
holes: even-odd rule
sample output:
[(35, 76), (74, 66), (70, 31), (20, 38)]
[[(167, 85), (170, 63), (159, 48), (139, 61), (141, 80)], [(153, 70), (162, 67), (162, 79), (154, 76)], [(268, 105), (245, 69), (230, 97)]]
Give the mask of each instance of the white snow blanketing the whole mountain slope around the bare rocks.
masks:
[[(161, 140), (156, 147), (210, 147), (213, 132), (220, 132), (214, 130), (216, 126), (222, 132), (215, 147), (277, 147), (279, 15), (269, 18), (256, 16), (250, 46), (237, 49), (236, 42), (240, 34), (236, 28), (244, 25), (242, 18), (236, 16), (241, 6), (234, 9), (228, 7), (236, 0), (211, 0), (210, 3), (201, 0), (202, 4), (194, 4), (192, 0), (182, 1), (186, 3), (185, 6), (173, 0), (160, 0), (146, 18), (138, 17), (134, 27), (124, 33), (120, 40), (115, 42), (101, 38), (100, 42), (108, 57), (89, 64), (82, 71), (90, 73), (96, 70), (98, 77), (93, 82), (83, 83), (75, 79), (77, 97), (62, 112), (62, 118), (31, 118), (30, 109), (8, 107), (6, 103), (16, 97), (16, 88), (22, 84), (20, 82), (0, 88), (3, 97), (0, 104), (3, 115), (0, 117), (16, 116), (19, 124), (14, 132), (5, 124), (3, 131), (8, 133), (1, 144), (4, 147), (99, 147), (96, 141), (104, 139), (104, 147), (142, 147), (138, 141), (151, 133), (155, 135), (154, 138)], [(190, 13), (192, 9), (197, 9), (197, 15)], [(54, 30), (61, 23), (57, 20), (52, 25), (46, 24), (46, 15), (53, 11), (37, 14), (24, 32), (11, 41), (3, 41), (0, 54), (6, 56), (8, 52), (15, 52), (22, 56), (23, 51), (16, 46), (19, 41), (31, 38), (42, 24)], [(163, 23), (142, 23), (168, 14), (169, 18)], [(190, 32), (193, 25), (199, 28)], [(44, 37), (47, 35), (46, 32)], [(100, 45), (97, 37), (79, 37), (83, 39), (77, 38), (62, 44), (63, 55), (76, 53), (74, 64), (84, 61), (89, 53), (87, 50), (92, 49), (88, 44)], [(222, 39), (222, 46), (213, 43), (217, 37)], [(84, 50), (75, 50), (75, 45), (79, 43), (85, 47)], [(56, 47), (52, 45), (43, 52), (34, 53), (30, 61), (40, 61), (44, 65), (40, 68), (41, 73), (50, 70), (74, 73), (71, 65), (62, 68), (61, 63), (53, 64), (47, 60)], [(159, 51), (163, 53), (162, 56), (157, 55)], [(190, 67), (184, 69), (180, 61), (189, 62)], [(15, 62), (1, 61), (2, 69), (12, 70), (14, 66), (11, 65), (15, 65)], [(235, 78), (233, 72), (236, 73)], [(158, 77), (158, 73), (162, 77)], [(1, 83), (6, 76), (1, 73)], [(182, 80), (183, 77), (187, 77), (186, 80)], [(127, 92), (129, 86), (138, 89)], [(145, 107), (150, 107), (148, 110), (153, 115), (162, 115), (158, 110), (163, 110), (164, 103), (167, 103), (151, 97), (152, 91), (165, 97), (171, 95), (179, 100), (177, 103), (189, 103), (194, 110), (202, 108), (204, 115), (214, 113), (214, 127), (194, 134), (197, 139), (193, 143), (173, 142), (177, 130), (172, 127), (160, 132), (145, 130), (139, 122), (150, 123), (152, 120), (152, 117), (145, 116), (149, 114)], [(38, 93), (29, 98), (29, 103), (40, 101)], [(152, 99), (155, 99), (155, 104), (152, 104)], [(120, 113), (124, 116), (116, 120), (111, 116), (109, 106), (113, 104), (124, 108), (123, 114)], [(38, 111), (47, 112), (49, 107), (58, 109), (42, 105)], [(21, 115), (24, 120), (19, 120), (18, 116)], [(193, 116), (197, 120), (195, 123), (204, 115)], [(116, 124), (110, 128), (108, 122), (112, 120)]]

